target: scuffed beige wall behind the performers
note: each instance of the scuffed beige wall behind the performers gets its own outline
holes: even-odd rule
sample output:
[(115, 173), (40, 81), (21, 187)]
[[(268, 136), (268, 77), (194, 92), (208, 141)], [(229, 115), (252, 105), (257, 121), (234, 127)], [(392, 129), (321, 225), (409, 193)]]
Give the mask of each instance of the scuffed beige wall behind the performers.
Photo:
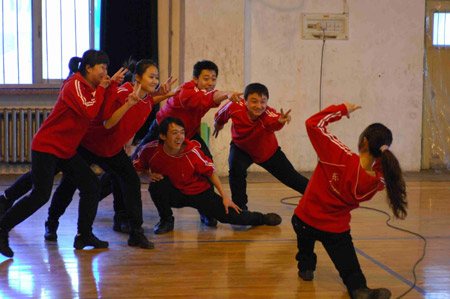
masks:
[[(210, 59), (220, 69), (218, 89), (266, 84), (269, 105), (293, 110), (292, 122), (277, 134), (283, 151), (296, 169), (313, 170), (316, 156), (304, 121), (320, 106), (322, 42), (300, 38), (300, 14), (342, 13), (343, 1), (182, 2), (184, 50), (178, 61), (186, 80), (196, 61)], [(356, 151), (357, 138), (368, 124), (385, 123), (394, 133), (392, 149), (403, 168), (419, 170), (425, 0), (347, 3), (349, 40), (325, 44), (322, 107), (349, 101), (363, 109), (330, 131)], [(204, 119), (210, 126), (215, 112)], [(222, 175), (228, 171), (229, 130), (210, 144)]]

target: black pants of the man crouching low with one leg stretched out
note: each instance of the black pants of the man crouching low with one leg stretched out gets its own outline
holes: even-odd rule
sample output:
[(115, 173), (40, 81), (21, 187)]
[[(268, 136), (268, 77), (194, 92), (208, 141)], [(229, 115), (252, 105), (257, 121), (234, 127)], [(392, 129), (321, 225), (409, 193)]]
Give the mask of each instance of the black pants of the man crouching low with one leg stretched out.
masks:
[(222, 197), (210, 188), (202, 193), (186, 195), (176, 189), (168, 178), (158, 182), (150, 182), (148, 190), (158, 210), (161, 220), (170, 218), (171, 208), (191, 207), (207, 217), (213, 217), (222, 223), (237, 225), (263, 225), (263, 214), (259, 212), (242, 211), (238, 214), (229, 208), (228, 214), (222, 202)]

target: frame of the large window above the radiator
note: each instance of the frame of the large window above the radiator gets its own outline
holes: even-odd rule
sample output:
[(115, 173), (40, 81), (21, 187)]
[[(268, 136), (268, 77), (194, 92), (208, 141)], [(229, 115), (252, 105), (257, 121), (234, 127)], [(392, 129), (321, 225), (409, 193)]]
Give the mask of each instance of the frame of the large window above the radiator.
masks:
[[(31, 17), (32, 17), (32, 36), (31, 36), (31, 47), (32, 47), (32, 80), (33, 83), (29, 84), (3, 84), (0, 83), (0, 89), (55, 89), (61, 86), (61, 83), (65, 78), (62, 79), (44, 79), (43, 78), (43, 53), (42, 53), (42, 6), (45, 0), (31, 0)], [(62, 0), (67, 1), (67, 0)], [(95, 47), (95, 1), (89, 0), (90, 15), (89, 15), (89, 48), (94, 49)], [(67, 69), (67, 74), (69, 69)]]

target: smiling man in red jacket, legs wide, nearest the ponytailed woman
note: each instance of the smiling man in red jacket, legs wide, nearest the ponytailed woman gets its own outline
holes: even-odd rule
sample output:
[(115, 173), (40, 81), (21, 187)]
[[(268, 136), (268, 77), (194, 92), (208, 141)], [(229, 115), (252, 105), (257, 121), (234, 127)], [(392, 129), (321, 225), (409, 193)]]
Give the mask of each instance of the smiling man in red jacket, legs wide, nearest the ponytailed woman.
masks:
[(230, 145), (229, 182), (233, 202), (247, 209), (247, 169), (253, 163), (266, 169), (283, 184), (305, 193), (308, 179), (298, 173), (278, 146), (275, 132), (289, 122), (290, 111), (277, 113), (267, 106), (269, 91), (260, 83), (245, 88), (244, 100), (228, 103), (220, 109), (214, 119), (213, 136), (231, 118), (232, 142)]

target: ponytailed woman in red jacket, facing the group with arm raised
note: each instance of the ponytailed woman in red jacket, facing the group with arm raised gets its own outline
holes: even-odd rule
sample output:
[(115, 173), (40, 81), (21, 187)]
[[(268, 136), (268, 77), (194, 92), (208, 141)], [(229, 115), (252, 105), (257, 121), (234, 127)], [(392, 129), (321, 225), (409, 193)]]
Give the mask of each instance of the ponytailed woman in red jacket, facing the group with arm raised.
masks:
[(311, 116), (306, 129), (319, 162), (300, 200), (292, 224), (297, 233), (299, 276), (314, 278), (321, 241), (339, 271), (351, 298), (390, 298), (389, 290), (369, 289), (350, 235), (350, 211), (370, 200), (385, 185), (397, 218), (406, 216), (406, 187), (397, 158), (389, 150), (392, 133), (384, 125), (368, 126), (359, 138), (359, 155), (328, 133), (326, 126), (349, 116), (360, 106), (330, 106)]

